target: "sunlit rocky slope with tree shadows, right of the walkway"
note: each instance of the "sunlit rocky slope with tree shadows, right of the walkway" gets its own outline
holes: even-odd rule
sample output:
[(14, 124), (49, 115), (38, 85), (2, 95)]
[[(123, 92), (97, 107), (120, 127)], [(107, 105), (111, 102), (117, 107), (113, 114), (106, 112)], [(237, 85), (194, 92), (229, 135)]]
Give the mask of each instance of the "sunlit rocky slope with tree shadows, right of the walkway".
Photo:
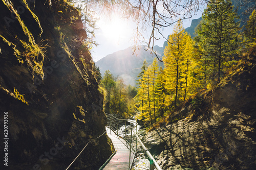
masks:
[[(162, 169), (255, 169), (256, 50), (210, 92), (199, 105), (176, 112), (177, 123), (143, 138)], [(188, 116), (189, 117), (189, 116)]]

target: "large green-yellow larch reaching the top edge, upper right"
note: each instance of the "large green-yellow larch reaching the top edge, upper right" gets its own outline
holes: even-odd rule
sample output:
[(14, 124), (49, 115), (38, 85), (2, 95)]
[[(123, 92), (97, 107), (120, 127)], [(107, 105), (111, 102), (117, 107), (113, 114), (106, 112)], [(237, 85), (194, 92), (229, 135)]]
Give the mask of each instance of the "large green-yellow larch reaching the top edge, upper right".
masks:
[(218, 83), (223, 69), (232, 66), (234, 51), (238, 48), (239, 22), (230, 0), (211, 1), (204, 10), (201, 28), (198, 30), (200, 45), (205, 50), (211, 79)]

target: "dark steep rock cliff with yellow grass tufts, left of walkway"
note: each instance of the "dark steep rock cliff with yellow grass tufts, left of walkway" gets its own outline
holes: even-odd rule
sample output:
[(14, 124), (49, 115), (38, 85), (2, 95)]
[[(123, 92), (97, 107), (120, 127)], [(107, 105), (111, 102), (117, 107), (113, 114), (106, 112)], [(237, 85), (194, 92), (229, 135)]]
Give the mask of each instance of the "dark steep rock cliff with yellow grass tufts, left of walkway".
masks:
[[(8, 169), (66, 169), (106, 125), (79, 12), (62, 0), (1, 0), (0, 13), (0, 123), (2, 129), (8, 112)], [(104, 134), (70, 169), (98, 169), (111, 154)]]

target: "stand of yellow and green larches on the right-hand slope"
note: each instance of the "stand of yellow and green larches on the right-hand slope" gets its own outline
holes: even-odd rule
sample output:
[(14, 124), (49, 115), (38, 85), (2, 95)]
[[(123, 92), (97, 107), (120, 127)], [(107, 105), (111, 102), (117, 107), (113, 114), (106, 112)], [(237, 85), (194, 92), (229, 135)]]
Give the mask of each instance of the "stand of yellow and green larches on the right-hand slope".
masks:
[[(156, 86), (162, 88), (158, 90), (157, 98), (154, 92), (155, 75), (150, 71), (151, 67), (147, 67), (139, 75), (143, 79), (135, 98), (138, 101), (137, 117), (142, 119), (145, 125), (152, 125), (165, 116), (173, 118), (170, 122), (179, 120), (182, 118), (181, 115), (172, 114), (184, 103), (192, 103), (194, 107), (200, 108), (200, 93), (211, 90), (236, 69), (241, 53), (248, 51), (248, 46), (255, 45), (254, 12), (246, 26), (248, 31), (245, 30), (243, 33), (236, 19), (231, 2), (220, 0), (219, 3), (208, 4), (197, 28), (198, 36), (194, 39), (184, 31), (182, 21), (177, 22), (164, 50), (164, 68), (162, 71), (159, 71), (160, 68), (156, 69), (159, 77)], [(145, 90), (145, 85), (150, 86), (150, 92)], [(148, 94), (149, 97), (143, 97)], [(156, 115), (153, 114), (155, 110)]]

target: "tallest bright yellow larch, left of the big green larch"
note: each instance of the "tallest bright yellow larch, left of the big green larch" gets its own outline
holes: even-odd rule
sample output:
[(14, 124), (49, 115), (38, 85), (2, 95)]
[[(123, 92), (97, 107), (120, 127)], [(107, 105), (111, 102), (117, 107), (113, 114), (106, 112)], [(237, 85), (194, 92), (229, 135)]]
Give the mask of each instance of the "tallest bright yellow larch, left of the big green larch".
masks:
[(168, 45), (164, 49), (164, 65), (166, 73), (166, 88), (174, 95), (174, 106), (180, 100), (182, 94), (179, 90), (182, 88), (181, 73), (184, 66), (184, 57), (182, 56), (186, 46), (187, 33), (183, 28), (182, 21), (179, 20), (174, 27), (173, 33), (169, 36)]

